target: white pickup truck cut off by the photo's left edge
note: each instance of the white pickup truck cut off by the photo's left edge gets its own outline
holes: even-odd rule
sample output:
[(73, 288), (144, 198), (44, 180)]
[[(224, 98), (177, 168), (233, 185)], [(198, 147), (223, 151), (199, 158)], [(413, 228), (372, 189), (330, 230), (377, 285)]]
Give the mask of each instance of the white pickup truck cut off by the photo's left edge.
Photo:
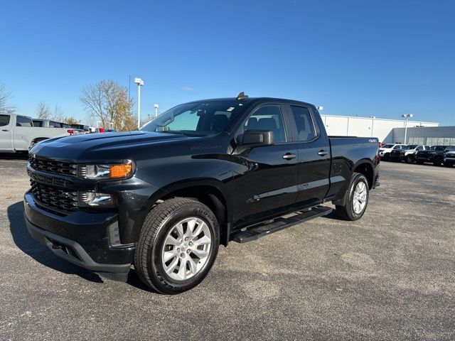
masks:
[(0, 114), (0, 152), (28, 151), (39, 141), (78, 134), (79, 129), (38, 128), (31, 117)]

